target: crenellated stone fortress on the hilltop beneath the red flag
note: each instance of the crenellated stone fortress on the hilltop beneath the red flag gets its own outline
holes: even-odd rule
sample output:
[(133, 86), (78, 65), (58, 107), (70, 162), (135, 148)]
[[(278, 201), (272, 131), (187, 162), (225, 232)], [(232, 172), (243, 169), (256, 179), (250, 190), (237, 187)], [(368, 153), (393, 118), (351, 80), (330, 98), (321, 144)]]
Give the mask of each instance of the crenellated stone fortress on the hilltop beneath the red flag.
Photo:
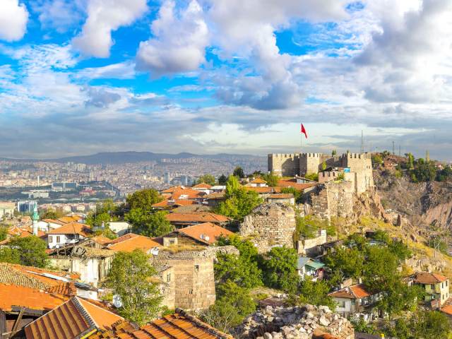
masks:
[[(325, 167), (327, 170), (323, 170)], [(268, 172), (280, 177), (304, 177), (319, 174), (319, 182), (334, 179), (343, 172), (344, 179), (352, 182), (356, 194), (374, 187), (370, 153), (344, 153), (331, 156), (322, 153), (269, 154)]]

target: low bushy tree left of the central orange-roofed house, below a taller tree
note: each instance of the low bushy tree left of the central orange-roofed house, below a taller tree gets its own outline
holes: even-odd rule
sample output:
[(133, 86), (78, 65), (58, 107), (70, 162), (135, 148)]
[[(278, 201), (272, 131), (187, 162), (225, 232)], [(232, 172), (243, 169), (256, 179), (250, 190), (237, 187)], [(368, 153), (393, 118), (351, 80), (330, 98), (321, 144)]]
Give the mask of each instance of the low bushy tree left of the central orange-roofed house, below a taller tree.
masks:
[(133, 208), (126, 213), (125, 220), (132, 224), (133, 232), (146, 237), (161, 237), (174, 230), (166, 215), (167, 212), (161, 210), (151, 213), (141, 208)]

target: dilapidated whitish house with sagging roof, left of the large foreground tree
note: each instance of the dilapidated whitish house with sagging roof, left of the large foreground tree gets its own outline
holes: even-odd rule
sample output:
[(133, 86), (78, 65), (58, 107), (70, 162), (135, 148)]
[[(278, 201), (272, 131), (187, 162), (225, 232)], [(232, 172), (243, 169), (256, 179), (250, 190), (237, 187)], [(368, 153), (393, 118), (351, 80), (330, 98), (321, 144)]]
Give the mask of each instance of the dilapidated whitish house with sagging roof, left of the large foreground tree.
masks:
[(109, 273), (115, 252), (102, 249), (91, 239), (53, 249), (49, 252), (52, 267), (69, 273), (79, 273), (81, 282), (97, 287)]

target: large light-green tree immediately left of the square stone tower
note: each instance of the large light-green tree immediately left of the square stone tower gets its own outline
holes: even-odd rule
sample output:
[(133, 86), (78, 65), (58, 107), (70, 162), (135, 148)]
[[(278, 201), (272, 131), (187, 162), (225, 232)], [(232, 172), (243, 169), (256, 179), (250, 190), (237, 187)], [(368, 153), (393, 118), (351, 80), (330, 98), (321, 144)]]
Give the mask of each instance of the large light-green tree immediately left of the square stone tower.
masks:
[(149, 256), (140, 249), (117, 253), (107, 276), (107, 286), (121, 298), (122, 306), (118, 310), (121, 316), (141, 326), (157, 316), (162, 296), (152, 279), (155, 275)]

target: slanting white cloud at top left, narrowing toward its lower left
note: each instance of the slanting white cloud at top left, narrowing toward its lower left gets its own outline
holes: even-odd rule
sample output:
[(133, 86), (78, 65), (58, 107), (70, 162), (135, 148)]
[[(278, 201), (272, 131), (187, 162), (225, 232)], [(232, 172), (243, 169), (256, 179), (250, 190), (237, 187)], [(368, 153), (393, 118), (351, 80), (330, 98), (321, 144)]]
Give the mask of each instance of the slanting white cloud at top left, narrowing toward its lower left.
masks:
[(72, 43), (87, 56), (109, 57), (112, 31), (130, 25), (148, 9), (146, 0), (90, 0), (88, 18)]

